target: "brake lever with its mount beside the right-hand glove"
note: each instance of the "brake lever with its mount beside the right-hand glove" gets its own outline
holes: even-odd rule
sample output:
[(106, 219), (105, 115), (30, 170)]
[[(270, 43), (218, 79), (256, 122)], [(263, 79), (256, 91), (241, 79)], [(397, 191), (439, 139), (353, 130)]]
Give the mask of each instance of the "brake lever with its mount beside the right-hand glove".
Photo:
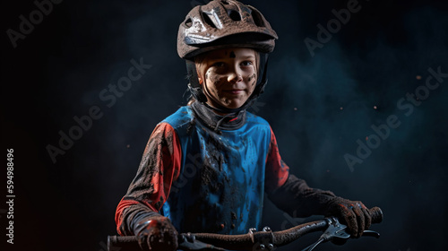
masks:
[[(338, 219), (334, 217), (328, 218), (327, 221), (329, 221), (328, 228), (323, 232), (323, 235), (314, 242), (314, 244), (306, 247), (302, 251), (312, 251), (314, 247), (327, 241), (332, 241), (332, 243), (336, 245), (343, 245), (347, 242), (351, 236), (349, 232), (347, 232), (347, 226), (341, 224)], [(380, 234), (372, 230), (363, 231), (362, 236), (380, 238)]]

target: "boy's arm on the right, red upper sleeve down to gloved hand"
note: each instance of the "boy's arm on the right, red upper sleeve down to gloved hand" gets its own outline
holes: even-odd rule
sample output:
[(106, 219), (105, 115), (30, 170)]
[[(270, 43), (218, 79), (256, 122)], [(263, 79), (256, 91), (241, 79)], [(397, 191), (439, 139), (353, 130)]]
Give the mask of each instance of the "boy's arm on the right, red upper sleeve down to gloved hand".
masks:
[(292, 217), (337, 216), (348, 224), (354, 237), (359, 237), (364, 229), (370, 227), (371, 216), (363, 203), (309, 187), (305, 180), (289, 174), (289, 167), (281, 160), (272, 130), (265, 177), (265, 191), (271, 202)]

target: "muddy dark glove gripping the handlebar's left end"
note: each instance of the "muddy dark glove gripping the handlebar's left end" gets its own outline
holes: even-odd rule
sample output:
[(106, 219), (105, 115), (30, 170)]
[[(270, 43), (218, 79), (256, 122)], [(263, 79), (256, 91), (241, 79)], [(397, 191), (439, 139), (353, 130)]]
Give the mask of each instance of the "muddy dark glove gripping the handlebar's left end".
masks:
[(143, 250), (177, 250), (177, 230), (167, 217), (160, 215), (139, 221), (134, 233)]

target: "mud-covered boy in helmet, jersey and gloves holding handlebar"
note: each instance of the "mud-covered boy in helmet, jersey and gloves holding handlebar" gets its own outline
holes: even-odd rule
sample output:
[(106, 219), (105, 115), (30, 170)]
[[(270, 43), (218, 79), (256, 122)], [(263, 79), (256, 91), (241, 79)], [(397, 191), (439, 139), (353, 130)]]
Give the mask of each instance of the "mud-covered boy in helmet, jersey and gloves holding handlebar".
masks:
[(363, 203), (289, 174), (271, 126), (246, 112), (263, 92), (275, 39), (263, 14), (237, 1), (187, 14), (177, 52), (192, 99), (152, 132), (116, 209), (119, 234), (135, 235), (146, 250), (176, 250), (177, 231), (244, 234), (260, 227), (264, 193), (298, 217), (338, 216), (355, 238), (370, 226)]

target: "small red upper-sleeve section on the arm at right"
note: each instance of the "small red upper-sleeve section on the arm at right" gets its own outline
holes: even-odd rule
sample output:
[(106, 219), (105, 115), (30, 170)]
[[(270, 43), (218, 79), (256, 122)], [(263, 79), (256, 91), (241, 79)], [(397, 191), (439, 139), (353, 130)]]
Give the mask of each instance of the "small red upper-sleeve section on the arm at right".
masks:
[(275, 139), (275, 134), (272, 132), (271, 128), (271, 143), (266, 157), (264, 190), (266, 192), (271, 192), (280, 186), (283, 186), (288, 179), (288, 176), (289, 167), (283, 160), (281, 160), (277, 140)]

